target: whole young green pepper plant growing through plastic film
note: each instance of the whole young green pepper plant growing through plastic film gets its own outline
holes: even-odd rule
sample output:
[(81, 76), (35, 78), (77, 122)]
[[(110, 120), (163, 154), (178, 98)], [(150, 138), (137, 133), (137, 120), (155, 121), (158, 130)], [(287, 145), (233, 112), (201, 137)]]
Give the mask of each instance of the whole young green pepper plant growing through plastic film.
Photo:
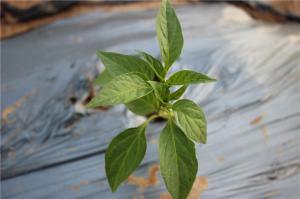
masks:
[[(190, 84), (215, 79), (191, 70), (181, 70), (167, 78), (183, 47), (181, 26), (169, 0), (162, 1), (156, 31), (163, 63), (146, 52), (139, 52), (138, 56), (97, 53), (105, 70), (96, 83), (103, 88), (87, 107), (124, 103), (138, 115), (151, 115), (140, 126), (116, 136), (105, 153), (106, 175), (113, 192), (143, 160), (148, 123), (157, 117), (165, 118), (166, 126), (158, 143), (161, 174), (172, 197), (184, 199), (198, 170), (194, 142), (206, 143), (206, 119), (196, 103), (180, 97)], [(171, 93), (173, 86), (179, 88)]]

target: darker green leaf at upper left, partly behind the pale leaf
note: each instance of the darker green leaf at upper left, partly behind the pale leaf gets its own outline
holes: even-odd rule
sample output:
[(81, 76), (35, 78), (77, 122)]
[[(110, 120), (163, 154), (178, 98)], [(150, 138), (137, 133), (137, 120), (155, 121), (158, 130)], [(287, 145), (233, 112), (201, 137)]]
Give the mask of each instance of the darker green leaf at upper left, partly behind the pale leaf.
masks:
[(113, 77), (136, 72), (141, 77), (146, 77), (147, 80), (154, 78), (154, 72), (149, 67), (149, 64), (137, 56), (113, 52), (97, 52), (97, 55)]

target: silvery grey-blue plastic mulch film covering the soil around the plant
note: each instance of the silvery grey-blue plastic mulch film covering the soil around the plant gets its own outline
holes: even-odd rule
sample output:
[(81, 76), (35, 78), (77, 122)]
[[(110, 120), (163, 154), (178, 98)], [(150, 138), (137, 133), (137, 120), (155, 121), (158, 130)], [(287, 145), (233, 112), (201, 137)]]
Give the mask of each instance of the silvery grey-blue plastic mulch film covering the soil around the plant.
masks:
[[(198, 175), (207, 185), (201, 198), (296, 199), (299, 25), (266, 25), (223, 5), (177, 11), (185, 47), (173, 70), (195, 69), (219, 80), (185, 95), (203, 107), (209, 124), (208, 144), (197, 146)], [(144, 190), (126, 183), (115, 194), (105, 178), (107, 144), (143, 118), (123, 106), (90, 114), (81, 106), (95, 66), (101, 68), (97, 49), (159, 55), (154, 16), (152, 10), (95, 12), (1, 42), (2, 198), (165, 197), (159, 176)], [(149, 127), (135, 176), (155, 168), (162, 127)]]

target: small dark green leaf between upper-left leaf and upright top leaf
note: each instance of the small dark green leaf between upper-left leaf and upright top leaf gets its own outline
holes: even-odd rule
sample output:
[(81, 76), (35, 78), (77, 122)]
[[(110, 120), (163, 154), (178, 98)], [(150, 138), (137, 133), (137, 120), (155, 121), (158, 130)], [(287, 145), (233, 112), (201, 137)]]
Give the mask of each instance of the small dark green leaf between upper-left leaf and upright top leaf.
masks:
[(146, 52), (143, 52), (143, 51), (138, 51), (138, 52), (140, 55), (143, 56), (145, 61), (150, 65), (150, 67), (152, 68), (152, 70), (154, 71), (156, 76), (160, 80), (163, 80), (166, 75), (166, 71), (164, 69), (164, 66), (161, 64), (161, 62)]

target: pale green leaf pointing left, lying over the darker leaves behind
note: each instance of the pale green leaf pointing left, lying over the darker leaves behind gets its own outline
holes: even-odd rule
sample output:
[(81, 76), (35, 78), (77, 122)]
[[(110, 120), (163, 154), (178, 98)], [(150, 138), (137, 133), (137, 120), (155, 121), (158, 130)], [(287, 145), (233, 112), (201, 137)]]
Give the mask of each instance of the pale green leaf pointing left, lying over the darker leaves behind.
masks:
[(149, 94), (152, 87), (135, 73), (119, 75), (99, 92), (88, 108), (128, 103)]

